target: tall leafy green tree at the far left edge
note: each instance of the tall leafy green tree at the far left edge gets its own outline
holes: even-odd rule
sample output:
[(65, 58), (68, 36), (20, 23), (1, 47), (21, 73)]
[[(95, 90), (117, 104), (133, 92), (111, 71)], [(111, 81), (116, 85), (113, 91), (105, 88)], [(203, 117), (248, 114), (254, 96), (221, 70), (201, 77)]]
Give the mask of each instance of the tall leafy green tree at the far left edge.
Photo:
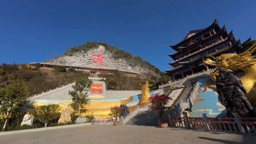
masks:
[(28, 86), (21, 81), (15, 81), (6, 88), (0, 88), (0, 114), (5, 118), (2, 131), (5, 130), (12, 114), (16, 114), (28, 100)]

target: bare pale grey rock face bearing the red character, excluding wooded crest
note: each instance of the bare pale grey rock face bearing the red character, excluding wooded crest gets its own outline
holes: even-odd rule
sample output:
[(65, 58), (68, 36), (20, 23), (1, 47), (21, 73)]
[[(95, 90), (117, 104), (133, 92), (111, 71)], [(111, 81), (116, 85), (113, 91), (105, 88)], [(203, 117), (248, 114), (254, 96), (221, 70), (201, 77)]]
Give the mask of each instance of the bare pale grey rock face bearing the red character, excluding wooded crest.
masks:
[(150, 72), (149, 69), (142, 68), (140, 65), (131, 66), (124, 58), (115, 59), (113, 54), (106, 50), (103, 45), (99, 45), (98, 48), (91, 48), (87, 52), (81, 50), (80, 52), (75, 52), (72, 55), (62, 55), (54, 60), (46, 61), (46, 63), (80, 67), (108, 68), (112, 70), (141, 74)]

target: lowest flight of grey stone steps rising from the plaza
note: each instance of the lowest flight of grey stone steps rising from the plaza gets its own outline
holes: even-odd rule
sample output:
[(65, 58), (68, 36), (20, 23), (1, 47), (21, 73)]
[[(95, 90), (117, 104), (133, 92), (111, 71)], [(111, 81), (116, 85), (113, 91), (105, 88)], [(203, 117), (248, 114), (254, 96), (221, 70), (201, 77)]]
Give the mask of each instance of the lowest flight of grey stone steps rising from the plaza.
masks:
[(157, 112), (142, 111), (138, 112), (125, 124), (127, 125), (144, 125), (144, 126), (157, 126), (158, 125), (158, 114)]

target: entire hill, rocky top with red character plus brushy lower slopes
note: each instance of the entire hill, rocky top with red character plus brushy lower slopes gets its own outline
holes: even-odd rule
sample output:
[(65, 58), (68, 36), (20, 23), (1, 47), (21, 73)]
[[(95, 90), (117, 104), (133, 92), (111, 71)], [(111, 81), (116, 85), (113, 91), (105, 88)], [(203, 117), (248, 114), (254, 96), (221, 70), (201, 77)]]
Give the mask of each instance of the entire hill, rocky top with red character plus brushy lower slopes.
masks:
[[(88, 42), (85, 45), (70, 48), (62, 56), (46, 61), (46, 63), (114, 70), (114, 75), (98, 74), (99, 77), (106, 78), (108, 89), (114, 90), (140, 90), (139, 84), (144, 84), (146, 80), (153, 85), (151, 89), (154, 90), (158, 84), (170, 80), (169, 76), (160, 72), (149, 62), (106, 43)], [(29, 96), (32, 96), (90, 75), (86, 71), (74, 69), (66, 71), (65, 67), (62, 71), (58, 69), (59, 67), (63, 66), (40, 68), (26, 64), (2, 64), (0, 65), (0, 88), (16, 80), (22, 80), (29, 87)], [(131, 77), (117, 70), (140, 73), (143, 77)], [(116, 86), (112, 88), (110, 83)]]

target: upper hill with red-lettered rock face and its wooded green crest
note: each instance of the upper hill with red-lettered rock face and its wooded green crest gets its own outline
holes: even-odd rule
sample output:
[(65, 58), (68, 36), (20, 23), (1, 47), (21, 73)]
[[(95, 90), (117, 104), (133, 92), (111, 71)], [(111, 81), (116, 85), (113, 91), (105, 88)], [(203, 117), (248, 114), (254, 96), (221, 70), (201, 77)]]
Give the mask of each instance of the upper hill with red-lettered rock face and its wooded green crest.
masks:
[(132, 56), (106, 43), (88, 42), (68, 49), (65, 54), (46, 61), (50, 64), (106, 68), (160, 77), (160, 70), (138, 56)]

